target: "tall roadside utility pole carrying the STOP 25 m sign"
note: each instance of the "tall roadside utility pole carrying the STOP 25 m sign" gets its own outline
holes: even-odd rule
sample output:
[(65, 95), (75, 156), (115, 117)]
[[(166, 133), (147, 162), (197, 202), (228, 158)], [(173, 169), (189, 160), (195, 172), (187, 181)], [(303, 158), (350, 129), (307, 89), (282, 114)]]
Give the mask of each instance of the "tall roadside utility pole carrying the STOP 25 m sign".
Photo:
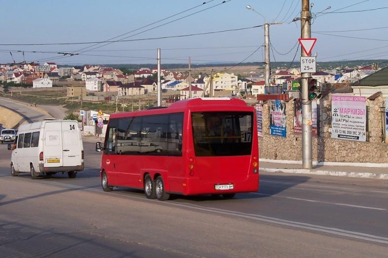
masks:
[[(311, 37), (310, 25), (310, 0), (302, 0), (301, 12), (301, 38)], [(308, 56), (302, 49), (302, 56)], [(302, 80), (302, 164), (303, 168), (312, 168), (312, 118), (311, 118), (311, 100), (309, 99), (309, 78), (310, 72), (301, 74)]]

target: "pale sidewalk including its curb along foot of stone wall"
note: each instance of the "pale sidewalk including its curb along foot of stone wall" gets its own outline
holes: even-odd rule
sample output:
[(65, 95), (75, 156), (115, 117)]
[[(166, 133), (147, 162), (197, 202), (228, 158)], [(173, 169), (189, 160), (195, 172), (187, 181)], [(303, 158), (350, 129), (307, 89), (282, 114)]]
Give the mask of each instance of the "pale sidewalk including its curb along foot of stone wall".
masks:
[(348, 176), (362, 178), (388, 179), (388, 167), (374, 167), (374, 164), (362, 164), (363, 166), (343, 165), (312, 165), (312, 169), (303, 169), (302, 164), (290, 164), (287, 161), (265, 160), (259, 161), (262, 172), (282, 172), (296, 174)]

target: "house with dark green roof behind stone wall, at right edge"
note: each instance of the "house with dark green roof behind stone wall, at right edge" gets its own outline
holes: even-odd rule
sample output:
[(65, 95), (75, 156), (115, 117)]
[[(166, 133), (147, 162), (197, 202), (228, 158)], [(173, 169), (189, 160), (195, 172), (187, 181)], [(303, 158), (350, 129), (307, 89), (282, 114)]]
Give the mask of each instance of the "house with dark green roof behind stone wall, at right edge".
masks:
[(388, 98), (388, 67), (353, 83), (351, 88), (354, 96), (370, 97), (382, 92), (383, 98)]

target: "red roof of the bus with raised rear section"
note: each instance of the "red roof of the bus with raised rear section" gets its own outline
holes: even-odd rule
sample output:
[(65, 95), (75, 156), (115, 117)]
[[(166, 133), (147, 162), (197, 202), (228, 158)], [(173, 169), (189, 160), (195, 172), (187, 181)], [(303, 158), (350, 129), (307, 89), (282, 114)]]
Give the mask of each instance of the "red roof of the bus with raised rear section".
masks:
[(187, 109), (198, 111), (220, 111), (220, 110), (241, 110), (253, 111), (253, 107), (248, 106), (244, 100), (229, 97), (196, 97), (174, 102), (167, 108), (155, 108), (134, 112), (124, 112), (111, 114), (112, 118), (156, 115), (174, 112), (183, 112)]

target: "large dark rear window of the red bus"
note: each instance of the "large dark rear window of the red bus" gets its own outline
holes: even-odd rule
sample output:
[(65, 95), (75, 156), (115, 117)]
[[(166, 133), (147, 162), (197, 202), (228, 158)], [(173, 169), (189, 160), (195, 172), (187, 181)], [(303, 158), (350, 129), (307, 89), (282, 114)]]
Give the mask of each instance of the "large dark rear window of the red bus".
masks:
[(193, 112), (195, 156), (250, 155), (252, 123), (252, 112)]

